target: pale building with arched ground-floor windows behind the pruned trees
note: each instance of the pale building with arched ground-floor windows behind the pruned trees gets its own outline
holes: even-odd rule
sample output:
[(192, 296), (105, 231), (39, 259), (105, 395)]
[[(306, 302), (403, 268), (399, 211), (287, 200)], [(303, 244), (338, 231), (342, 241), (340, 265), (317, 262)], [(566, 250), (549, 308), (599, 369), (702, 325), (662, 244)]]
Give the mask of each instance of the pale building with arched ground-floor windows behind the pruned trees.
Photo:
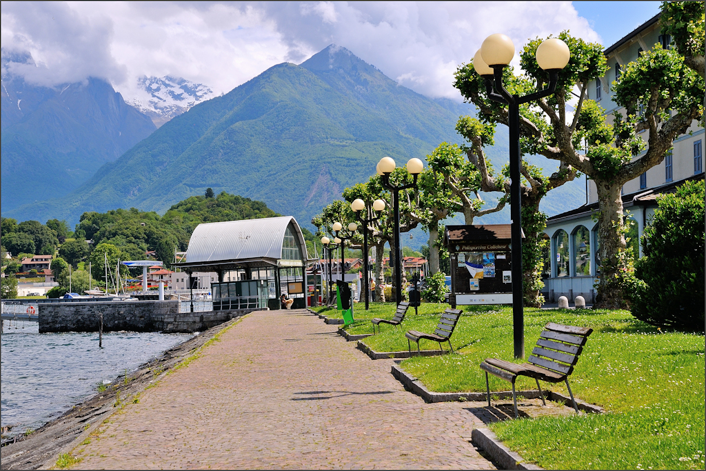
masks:
[[(659, 14), (604, 51), (609, 71), (588, 90), (588, 98), (605, 109), (604, 116), (612, 122), (614, 112), (624, 110), (613, 101), (610, 85), (620, 74), (621, 67), (637, 59), (642, 51), (652, 49), (654, 44), (670, 47), (669, 35), (662, 35)], [(648, 131), (642, 131), (648, 138)], [(623, 185), (623, 208), (626, 217), (634, 221), (628, 242), (641, 255), (639, 237), (657, 208), (659, 193), (674, 191), (686, 179), (703, 179), (704, 129), (694, 121), (686, 134), (674, 140), (674, 148), (659, 165), (647, 170), (640, 177)], [(638, 155), (635, 158), (641, 157)], [(587, 204), (566, 213), (558, 214), (546, 222), (544, 233), (551, 240), (544, 267), (544, 295), (547, 301), (555, 302), (559, 296), (573, 301), (576, 296), (594, 300), (593, 285), (600, 272), (597, 260), (598, 226), (592, 215), (598, 210), (598, 195), (593, 181), (587, 181)]]

